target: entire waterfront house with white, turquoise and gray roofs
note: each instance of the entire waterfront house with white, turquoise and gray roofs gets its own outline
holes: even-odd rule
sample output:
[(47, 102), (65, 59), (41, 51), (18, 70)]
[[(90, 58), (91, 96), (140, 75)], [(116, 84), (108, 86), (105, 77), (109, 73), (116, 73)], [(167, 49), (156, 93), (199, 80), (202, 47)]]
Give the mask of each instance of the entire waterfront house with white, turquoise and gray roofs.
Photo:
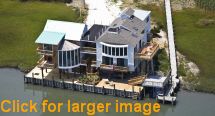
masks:
[(92, 27), (48, 20), (36, 40), (41, 55), (38, 67), (122, 79), (126, 75), (130, 85), (164, 88), (168, 78), (154, 72), (159, 46), (150, 40), (150, 13), (127, 8), (110, 25)]

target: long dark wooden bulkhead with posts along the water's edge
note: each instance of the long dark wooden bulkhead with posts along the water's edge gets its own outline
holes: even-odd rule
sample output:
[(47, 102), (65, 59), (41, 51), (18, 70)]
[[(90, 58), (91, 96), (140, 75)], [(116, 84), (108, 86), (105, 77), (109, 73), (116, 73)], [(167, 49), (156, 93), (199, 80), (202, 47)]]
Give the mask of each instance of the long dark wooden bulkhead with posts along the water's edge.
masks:
[(64, 80), (61, 80), (61, 81), (54, 80), (54, 79), (50, 80), (50, 79), (32, 78), (27, 76), (24, 76), (24, 82), (27, 84), (33, 84), (33, 85), (42, 85), (42, 86), (53, 87), (53, 88), (70, 89), (74, 91), (111, 95), (111, 96), (131, 98), (136, 100), (141, 100), (142, 94), (143, 94), (142, 91), (135, 91), (136, 89), (120, 90), (120, 89), (117, 89), (115, 86), (113, 88), (110, 88), (105, 86), (82, 84), (74, 81), (69, 82)]

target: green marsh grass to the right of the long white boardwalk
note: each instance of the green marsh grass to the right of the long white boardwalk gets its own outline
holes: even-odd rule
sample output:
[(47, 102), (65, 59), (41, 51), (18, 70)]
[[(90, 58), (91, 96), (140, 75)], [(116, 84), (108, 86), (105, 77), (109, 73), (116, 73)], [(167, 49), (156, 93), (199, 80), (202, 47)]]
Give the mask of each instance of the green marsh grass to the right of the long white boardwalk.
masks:
[(215, 23), (202, 26), (202, 19), (215, 20), (199, 9), (186, 9), (173, 14), (176, 47), (200, 68), (198, 90), (215, 93)]

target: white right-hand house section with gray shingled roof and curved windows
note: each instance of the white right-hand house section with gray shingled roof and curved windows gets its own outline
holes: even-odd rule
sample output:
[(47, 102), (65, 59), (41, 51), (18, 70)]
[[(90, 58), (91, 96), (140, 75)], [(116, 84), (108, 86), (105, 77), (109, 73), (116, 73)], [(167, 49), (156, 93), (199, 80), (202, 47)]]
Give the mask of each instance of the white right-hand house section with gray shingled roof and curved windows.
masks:
[(124, 10), (96, 41), (97, 67), (105, 64), (135, 71), (140, 63), (135, 54), (147, 43), (150, 30), (149, 11)]

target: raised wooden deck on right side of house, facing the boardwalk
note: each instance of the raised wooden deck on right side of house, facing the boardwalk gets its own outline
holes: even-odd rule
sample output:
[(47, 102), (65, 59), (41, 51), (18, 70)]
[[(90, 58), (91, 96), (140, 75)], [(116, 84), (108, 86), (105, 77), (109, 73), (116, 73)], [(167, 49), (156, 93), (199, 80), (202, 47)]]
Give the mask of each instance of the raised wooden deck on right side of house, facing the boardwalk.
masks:
[(159, 50), (159, 45), (156, 43), (147, 43), (137, 54), (136, 58), (143, 60), (151, 60)]

